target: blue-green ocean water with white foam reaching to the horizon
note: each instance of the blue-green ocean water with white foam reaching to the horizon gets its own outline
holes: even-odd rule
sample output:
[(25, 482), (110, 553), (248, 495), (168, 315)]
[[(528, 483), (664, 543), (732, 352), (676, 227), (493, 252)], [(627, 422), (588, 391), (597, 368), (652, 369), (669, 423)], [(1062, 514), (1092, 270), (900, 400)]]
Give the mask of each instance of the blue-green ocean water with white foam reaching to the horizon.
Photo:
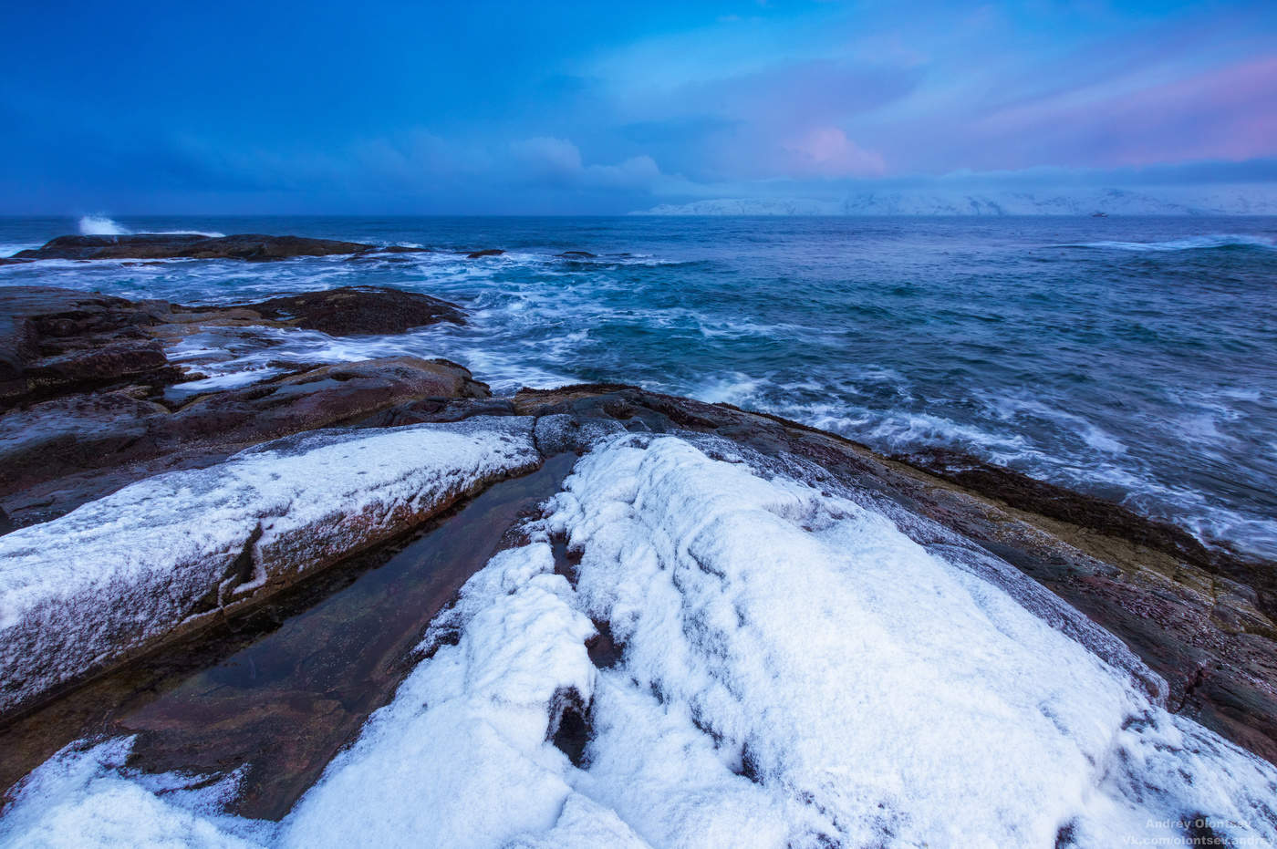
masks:
[[(466, 327), (184, 342), (235, 386), (281, 363), (414, 354), (497, 392), (617, 380), (727, 401), (886, 452), (944, 446), (1277, 555), (1277, 218), (106, 218), (88, 230), (271, 232), (430, 254), (0, 267), (174, 301), (382, 285)], [(0, 255), (79, 222), (0, 220)], [(466, 259), (458, 250), (503, 248)], [(564, 258), (585, 250), (593, 258)]]

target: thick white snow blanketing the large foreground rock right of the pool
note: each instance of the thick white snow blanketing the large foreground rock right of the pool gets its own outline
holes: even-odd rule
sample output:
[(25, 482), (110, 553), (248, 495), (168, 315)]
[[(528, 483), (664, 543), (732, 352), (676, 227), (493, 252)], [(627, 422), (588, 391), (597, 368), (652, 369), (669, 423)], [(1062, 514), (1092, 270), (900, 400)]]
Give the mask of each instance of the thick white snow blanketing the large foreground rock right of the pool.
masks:
[[(678, 437), (603, 437), (277, 829), (64, 753), (0, 839), (69, 835), (110, 793), (112, 821), (203, 845), (1111, 846), (1198, 818), (1277, 840), (1277, 770), (867, 504)], [(580, 563), (555, 571), (564, 537)], [(590, 661), (595, 623), (613, 665)], [(570, 695), (581, 767), (552, 740)], [(78, 795), (50, 789), (68, 770)]]

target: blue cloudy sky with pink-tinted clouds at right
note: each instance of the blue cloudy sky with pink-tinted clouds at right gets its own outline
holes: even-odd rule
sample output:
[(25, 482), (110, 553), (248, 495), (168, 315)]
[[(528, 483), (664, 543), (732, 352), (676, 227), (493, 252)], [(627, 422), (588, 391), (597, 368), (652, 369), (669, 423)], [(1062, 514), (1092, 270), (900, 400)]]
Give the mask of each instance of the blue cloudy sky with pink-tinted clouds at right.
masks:
[(1277, 3), (13, 3), (0, 213), (1277, 185)]

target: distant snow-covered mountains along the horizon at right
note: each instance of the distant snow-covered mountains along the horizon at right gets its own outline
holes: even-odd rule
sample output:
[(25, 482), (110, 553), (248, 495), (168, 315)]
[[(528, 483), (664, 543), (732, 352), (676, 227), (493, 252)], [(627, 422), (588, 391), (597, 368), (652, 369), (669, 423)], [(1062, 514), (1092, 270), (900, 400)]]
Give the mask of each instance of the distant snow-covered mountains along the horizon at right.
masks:
[(661, 204), (647, 216), (1274, 216), (1277, 188), (1045, 192), (865, 192), (843, 199), (723, 198)]

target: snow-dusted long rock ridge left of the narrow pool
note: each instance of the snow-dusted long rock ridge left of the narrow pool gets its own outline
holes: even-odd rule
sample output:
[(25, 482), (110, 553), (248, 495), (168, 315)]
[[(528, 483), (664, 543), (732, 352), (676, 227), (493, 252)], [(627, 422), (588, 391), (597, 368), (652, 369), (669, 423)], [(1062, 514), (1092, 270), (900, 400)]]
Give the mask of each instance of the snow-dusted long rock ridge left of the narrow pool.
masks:
[(535, 467), (531, 421), (281, 439), (0, 536), (0, 709)]

